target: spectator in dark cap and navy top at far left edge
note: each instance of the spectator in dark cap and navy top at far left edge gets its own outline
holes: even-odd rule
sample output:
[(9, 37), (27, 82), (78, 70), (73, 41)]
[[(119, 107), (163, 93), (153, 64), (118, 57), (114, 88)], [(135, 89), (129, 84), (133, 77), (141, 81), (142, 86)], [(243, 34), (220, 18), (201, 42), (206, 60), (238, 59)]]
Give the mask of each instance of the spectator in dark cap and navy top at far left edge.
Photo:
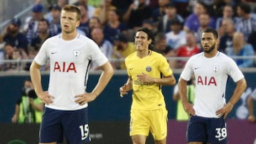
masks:
[(21, 20), (13, 18), (6, 31), (0, 35), (0, 43), (13, 43), (18, 50), (28, 52), (28, 40), (26, 35), (19, 32), (21, 27)]

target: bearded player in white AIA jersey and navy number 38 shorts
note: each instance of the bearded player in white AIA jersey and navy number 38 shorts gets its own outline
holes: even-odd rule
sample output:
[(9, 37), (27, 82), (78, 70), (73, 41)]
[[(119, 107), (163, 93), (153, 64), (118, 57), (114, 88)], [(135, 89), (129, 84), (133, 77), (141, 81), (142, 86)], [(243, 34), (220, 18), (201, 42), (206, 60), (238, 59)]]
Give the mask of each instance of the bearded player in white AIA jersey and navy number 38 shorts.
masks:
[[(247, 87), (245, 77), (227, 55), (218, 51), (218, 33), (207, 28), (201, 35), (203, 52), (193, 55), (181, 72), (178, 90), (188, 120), (187, 143), (228, 143), (225, 118)], [(195, 75), (196, 96), (194, 105), (188, 103), (187, 82)], [(236, 83), (233, 96), (226, 104), (225, 88), (231, 77)]]

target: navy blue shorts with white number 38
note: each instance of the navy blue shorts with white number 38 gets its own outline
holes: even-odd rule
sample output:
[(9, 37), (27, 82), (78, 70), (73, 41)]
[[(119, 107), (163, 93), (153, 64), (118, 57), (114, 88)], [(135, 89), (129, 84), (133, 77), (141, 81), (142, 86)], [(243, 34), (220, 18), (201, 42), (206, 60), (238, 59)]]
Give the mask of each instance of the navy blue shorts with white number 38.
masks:
[(225, 119), (191, 116), (186, 133), (188, 142), (227, 143), (228, 133)]

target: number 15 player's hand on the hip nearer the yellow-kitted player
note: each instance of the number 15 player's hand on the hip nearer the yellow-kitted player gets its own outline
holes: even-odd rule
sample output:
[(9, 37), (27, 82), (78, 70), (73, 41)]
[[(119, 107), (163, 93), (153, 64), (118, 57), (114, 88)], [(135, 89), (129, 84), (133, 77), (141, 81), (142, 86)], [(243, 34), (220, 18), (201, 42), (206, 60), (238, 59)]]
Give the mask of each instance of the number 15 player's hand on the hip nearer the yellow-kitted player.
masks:
[(97, 95), (92, 93), (79, 94), (75, 96), (75, 102), (81, 106), (96, 99)]

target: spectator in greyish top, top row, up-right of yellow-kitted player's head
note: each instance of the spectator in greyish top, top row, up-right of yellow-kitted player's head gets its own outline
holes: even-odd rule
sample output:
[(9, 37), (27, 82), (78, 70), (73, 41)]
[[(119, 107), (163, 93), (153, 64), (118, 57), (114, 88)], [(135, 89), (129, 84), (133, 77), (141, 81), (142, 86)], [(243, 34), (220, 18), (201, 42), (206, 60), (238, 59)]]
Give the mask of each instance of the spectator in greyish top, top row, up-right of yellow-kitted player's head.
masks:
[(159, 32), (168, 33), (169, 31), (171, 31), (171, 23), (173, 21), (178, 20), (181, 23), (184, 22), (183, 18), (177, 13), (177, 9), (174, 4), (166, 5), (165, 13), (166, 14), (164, 15), (164, 17), (161, 19), (161, 21), (159, 21)]

